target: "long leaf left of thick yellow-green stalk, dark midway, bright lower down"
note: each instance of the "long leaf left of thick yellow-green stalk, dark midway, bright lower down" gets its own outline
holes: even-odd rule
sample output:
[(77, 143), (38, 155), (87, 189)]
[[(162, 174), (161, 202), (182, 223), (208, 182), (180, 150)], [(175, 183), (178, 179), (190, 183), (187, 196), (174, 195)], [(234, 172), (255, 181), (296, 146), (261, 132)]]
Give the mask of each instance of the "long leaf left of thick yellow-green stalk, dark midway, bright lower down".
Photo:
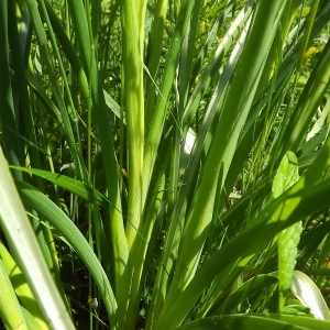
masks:
[[(98, 69), (91, 69), (90, 65), (90, 40), (88, 22), (84, 10), (82, 1), (69, 1), (70, 15), (76, 29), (76, 36), (80, 47), (82, 67), (91, 80), (92, 119), (99, 133), (102, 146), (103, 167), (109, 195), (109, 227), (114, 260), (116, 297), (118, 302), (117, 319), (118, 327), (123, 327), (129, 301), (131, 273), (128, 270), (128, 244), (123, 228), (123, 217), (119, 189), (119, 168), (116, 161), (112, 127), (106, 112), (103, 90), (100, 82)], [(92, 62), (96, 65), (96, 61)], [(114, 326), (116, 327), (116, 326)]]

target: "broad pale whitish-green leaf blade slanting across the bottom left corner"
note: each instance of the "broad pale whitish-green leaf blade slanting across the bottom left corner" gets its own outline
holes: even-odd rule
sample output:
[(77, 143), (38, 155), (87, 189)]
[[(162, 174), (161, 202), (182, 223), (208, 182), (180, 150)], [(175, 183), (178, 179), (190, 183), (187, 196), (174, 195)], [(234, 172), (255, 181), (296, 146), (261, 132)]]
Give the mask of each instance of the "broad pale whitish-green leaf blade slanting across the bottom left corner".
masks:
[(0, 220), (11, 251), (16, 256), (50, 327), (75, 329), (46, 267), (1, 150), (0, 170)]

